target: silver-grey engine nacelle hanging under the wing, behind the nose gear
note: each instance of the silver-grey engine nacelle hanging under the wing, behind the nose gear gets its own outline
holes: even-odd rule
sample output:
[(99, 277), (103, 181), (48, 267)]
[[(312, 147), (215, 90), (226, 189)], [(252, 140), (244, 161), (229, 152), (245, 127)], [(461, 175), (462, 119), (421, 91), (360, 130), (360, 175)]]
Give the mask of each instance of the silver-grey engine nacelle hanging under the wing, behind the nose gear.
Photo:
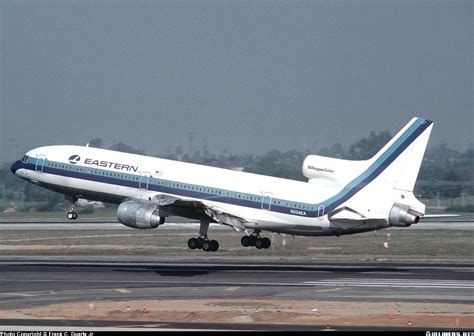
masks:
[(160, 225), (160, 212), (151, 205), (125, 201), (117, 210), (120, 223), (134, 229), (155, 229)]

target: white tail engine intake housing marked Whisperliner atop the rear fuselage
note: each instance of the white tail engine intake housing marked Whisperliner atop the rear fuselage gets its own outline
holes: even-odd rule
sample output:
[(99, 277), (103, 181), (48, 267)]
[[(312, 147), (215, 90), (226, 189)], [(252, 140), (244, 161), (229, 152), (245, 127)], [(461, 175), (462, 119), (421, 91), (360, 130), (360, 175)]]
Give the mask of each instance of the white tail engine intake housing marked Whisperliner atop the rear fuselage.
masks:
[(344, 184), (358, 175), (367, 165), (367, 161), (308, 155), (303, 161), (302, 172), (309, 183)]

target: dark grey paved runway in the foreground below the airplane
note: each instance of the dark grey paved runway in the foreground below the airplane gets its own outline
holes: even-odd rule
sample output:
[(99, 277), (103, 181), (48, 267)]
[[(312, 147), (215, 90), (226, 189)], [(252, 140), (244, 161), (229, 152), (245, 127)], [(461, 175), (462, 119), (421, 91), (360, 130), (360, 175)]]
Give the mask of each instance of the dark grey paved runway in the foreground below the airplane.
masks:
[[(293, 265), (285, 261), (257, 265), (225, 259), (205, 262), (203, 258), (161, 263), (2, 261), (0, 310), (145, 299), (335, 301), (342, 306), (349, 302), (424, 302), (472, 307), (473, 274), (474, 265), (407, 266), (393, 262), (357, 266)], [(16, 321), (12, 317), (8, 320), (1, 324)], [(34, 323), (35, 319), (22, 321)], [(123, 323), (115, 323), (120, 325)], [(224, 324), (220, 329), (227, 327)]]

